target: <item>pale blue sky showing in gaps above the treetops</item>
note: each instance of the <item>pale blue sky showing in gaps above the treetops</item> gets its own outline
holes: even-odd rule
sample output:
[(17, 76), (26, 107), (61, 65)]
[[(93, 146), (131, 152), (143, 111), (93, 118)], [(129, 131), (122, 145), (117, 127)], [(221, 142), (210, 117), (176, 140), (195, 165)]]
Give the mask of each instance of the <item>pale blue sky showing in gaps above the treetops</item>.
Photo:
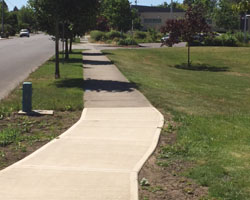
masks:
[[(14, 6), (21, 8), (23, 5), (26, 5), (27, 1), (28, 0), (5, 0), (10, 10), (13, 10)], [(169, 3), (171, 0), (137, 0), (137, 4), (150, 6), (150, 5), (159, 5), (164, 1), (167, 1)], [(130, 0), (130, 2), (134, 4), (135, 0)]]

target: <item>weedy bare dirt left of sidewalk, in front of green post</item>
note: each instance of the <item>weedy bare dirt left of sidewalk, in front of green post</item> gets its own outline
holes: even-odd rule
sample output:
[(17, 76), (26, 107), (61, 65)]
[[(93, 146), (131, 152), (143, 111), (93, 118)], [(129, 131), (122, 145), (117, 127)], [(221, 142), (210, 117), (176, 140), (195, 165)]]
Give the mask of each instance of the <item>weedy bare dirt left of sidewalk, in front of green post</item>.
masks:
[[(23, 159), (61, 135), (76, 123), (81, 111), (55, 112), (54, 116), (11, 116), (0, 120), (0, 131), (12, 129), (18, 135), (0, 145), (0, 170)], [(0, 143), (1, 144), (1, 143)]]

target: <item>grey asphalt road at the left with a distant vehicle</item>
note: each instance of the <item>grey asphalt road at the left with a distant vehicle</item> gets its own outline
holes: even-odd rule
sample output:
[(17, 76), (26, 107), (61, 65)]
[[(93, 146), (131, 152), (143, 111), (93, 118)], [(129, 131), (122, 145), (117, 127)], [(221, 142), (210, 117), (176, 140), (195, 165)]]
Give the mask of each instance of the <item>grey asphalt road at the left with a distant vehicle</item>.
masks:
[(0, 99), (54, 55), (54, 42), (44, 34), (0, 40)]

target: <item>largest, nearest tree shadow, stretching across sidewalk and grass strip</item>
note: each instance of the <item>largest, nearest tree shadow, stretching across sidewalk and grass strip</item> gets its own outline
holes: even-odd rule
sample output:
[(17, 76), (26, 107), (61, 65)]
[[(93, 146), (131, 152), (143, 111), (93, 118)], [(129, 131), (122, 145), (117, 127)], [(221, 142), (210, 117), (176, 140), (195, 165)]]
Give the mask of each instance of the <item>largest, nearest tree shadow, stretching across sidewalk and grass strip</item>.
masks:
[(81, 78), (58, 80), (55, 85), (59, 88), (80, 88), (97, 92), (132, 92), (137, 88), (136, 84), (129, 82)]

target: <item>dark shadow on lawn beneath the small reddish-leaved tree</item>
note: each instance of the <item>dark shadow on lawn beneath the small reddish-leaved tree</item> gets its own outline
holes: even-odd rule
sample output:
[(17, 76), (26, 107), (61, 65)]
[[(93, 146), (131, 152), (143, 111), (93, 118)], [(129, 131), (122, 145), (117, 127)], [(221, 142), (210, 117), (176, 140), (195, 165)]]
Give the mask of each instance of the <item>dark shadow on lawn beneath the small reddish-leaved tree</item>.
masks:
[(188, 66), (186, 63), (174, 66), (177, 69), (192, 70), (192, 71), (209, 71), (209, 72), (227, 72), (229, 67), (215, 67), (208, 64), (191, 64)]

